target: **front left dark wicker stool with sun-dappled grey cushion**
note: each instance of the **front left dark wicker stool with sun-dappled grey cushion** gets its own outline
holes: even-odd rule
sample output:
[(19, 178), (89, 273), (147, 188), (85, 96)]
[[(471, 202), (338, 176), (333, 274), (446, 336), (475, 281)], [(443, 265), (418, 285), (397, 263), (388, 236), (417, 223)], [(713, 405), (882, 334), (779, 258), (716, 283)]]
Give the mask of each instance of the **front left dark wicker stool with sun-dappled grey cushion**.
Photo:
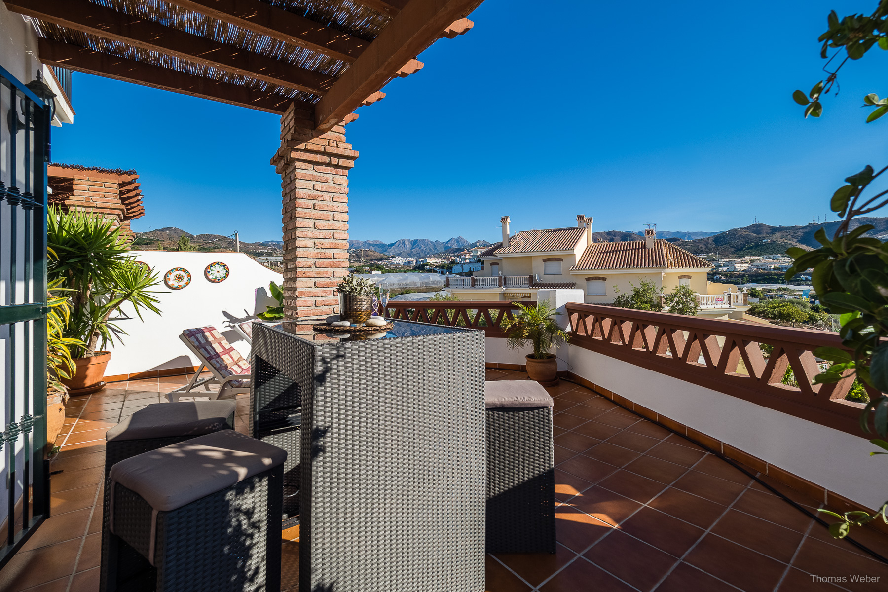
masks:
[(116, 463), (109, 539), (129, 560), (108, 580), (127, 592), (278, 592), (286, 458), (222, 430)]

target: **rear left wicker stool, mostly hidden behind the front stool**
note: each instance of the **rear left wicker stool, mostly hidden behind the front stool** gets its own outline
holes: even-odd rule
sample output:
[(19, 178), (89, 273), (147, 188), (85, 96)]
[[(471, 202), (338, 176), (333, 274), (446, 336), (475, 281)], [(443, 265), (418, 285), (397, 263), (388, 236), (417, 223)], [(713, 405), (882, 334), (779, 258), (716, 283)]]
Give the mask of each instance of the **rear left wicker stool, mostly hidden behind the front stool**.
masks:
[(116, 462), (218, 430), (234, 429), (234, 400), (155, 403), (125, 418), (105, 434), (105, 502), (102, 508), (102, 592), (115, 590), (107, 581), (116, 564), (108, 543), (108, 473)]

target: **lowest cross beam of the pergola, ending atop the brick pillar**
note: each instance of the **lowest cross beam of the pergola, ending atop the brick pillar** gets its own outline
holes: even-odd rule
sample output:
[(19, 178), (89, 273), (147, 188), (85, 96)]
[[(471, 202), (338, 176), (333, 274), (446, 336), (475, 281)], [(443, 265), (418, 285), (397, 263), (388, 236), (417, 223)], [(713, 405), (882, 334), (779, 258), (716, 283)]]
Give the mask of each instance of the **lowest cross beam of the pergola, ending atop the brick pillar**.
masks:
[(268, 113), (283, 114), (290, 103), (296, 103), (297, 107), (304, 109), (313, 107), (310, 103), (255, 91), (247, 86), (211, 80), (51, 39), (40, 39), (38, 51), (40, 61), (49, 66), (67, 67), (77, 72), (105, 76), (201, 99), (216, 100), (229, 105), (250, 107)]

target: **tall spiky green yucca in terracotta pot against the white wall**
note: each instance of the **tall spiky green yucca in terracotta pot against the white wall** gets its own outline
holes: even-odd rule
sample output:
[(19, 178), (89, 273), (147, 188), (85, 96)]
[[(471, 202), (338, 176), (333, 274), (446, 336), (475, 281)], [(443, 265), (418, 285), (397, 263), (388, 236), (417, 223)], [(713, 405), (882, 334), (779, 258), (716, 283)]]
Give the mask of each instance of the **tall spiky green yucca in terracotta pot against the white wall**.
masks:
[(65, 333), (83, 343), (71, 348), (74, 375), (60, 380), (72, 395), (99, 391), (105, 386), (102, 378), (111, 352), (97, 348), (126, 335), (114, 322), (129, 318), (120, 316), (124, 304), (139, 320), (143, 310), (160, 314), (153, 296), (157, 292), (150, 289), (160, 280), (128, 257), (127, 237), (99, 215), (50, 209), (46, 233), (47, 247), (55, 253), (47, 265), (47, 278), (67, 291), (71, 304)]

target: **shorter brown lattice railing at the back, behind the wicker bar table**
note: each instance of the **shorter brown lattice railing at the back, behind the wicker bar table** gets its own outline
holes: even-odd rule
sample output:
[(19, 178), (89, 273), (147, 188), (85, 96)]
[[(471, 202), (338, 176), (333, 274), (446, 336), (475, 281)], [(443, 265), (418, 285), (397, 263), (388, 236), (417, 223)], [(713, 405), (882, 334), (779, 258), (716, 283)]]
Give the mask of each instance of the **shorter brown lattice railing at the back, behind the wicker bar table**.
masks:
[[(521, 304), (535, 305), (535, 301), (521, 301)], [(505, 337), (503, 319), (511, 319), (518, 310), (509, 300), (490, 302), (470, 300), (390, 300), (385, 306), (385, 316), (395, 320), (418, 320), (432, 325), (448, 327), (476, 328), (488, 337)]]

